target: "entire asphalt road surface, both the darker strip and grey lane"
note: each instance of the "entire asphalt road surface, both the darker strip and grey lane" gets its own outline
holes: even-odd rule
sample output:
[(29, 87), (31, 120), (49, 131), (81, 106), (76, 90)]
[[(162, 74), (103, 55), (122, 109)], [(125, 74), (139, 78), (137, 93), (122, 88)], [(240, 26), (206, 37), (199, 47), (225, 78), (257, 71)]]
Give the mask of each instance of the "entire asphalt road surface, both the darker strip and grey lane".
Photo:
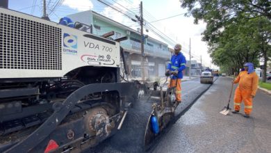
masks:
[[(149, 152), (271, 152), (271, 96), (258, 90), (250, 118), (243, 117), (243, 104), (240, 113), (222, 115), (219, 112), (227, 105), (230, 88), (228, 77), (219, 77), (212, 86), (199, 83), (199, 79), (183, 82), (182, 103), (176, 110), (179, 120)], [(150, 112), (150, 101), (133, 104), (122, 129), (87, 152), (145, 152)]]

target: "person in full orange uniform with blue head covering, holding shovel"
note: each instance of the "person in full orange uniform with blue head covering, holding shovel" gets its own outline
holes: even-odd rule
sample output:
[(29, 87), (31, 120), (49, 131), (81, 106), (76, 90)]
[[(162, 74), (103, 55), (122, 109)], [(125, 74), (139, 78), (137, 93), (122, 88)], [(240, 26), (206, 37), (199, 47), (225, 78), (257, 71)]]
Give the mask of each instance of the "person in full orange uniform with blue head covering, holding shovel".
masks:
[(252, 99), (256, 95), (258, 89), (258, 75), (254, 71), (253, 63), (245, 63), (245, 70), (240, 72), (238, 77), (233, 83), (239, 83), (234, 95), (234, 111), (232, 113), (238, 113), (240, 111), (240, 104), (242, 100), (245, 104), (245, 118), (249, 118), (252, 112)]

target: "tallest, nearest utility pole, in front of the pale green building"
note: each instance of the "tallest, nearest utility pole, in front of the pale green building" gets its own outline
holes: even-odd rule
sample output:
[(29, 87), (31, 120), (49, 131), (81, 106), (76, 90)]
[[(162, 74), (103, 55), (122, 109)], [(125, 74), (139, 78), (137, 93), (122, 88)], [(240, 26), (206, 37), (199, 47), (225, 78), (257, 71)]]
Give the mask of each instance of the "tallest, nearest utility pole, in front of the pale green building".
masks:
[(145, 83), (145, 62), (144, 62), (144, 33), (143, 33), (143, 6), (140, 1), (140, 27), (141, 27), (141, 66), (142, 81)]

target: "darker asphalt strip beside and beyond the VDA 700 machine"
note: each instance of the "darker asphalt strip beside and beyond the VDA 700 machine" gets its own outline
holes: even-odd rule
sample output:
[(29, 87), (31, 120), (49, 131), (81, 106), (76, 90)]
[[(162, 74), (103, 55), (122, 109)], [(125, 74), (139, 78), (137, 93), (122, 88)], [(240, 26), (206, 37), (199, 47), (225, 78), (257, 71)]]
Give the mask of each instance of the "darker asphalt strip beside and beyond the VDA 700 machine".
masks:
[[(176, 115), (183, 112), (190, 104), (207, 90), (210, 84), (201, 84), (199, 79), (182, 82), (182, 103)], [(129, 109), (122, 129), (111, 138), (86, 152), (144, 152), (144, 134), (147, 120), (152, 111), (151, 101), (142, 100)]]

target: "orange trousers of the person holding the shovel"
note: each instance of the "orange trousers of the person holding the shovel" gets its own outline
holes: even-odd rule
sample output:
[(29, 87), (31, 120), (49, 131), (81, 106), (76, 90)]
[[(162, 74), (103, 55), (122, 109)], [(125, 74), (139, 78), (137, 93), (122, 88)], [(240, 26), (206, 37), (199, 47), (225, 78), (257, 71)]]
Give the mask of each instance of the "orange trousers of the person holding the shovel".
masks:
[(244, 101), (245, 113), (250, 114), (252, 112), (252, 90), (240, 90), (239, 87), (236, 88), (234, 95), (234, 109), (240, 111), (241, 102)]

